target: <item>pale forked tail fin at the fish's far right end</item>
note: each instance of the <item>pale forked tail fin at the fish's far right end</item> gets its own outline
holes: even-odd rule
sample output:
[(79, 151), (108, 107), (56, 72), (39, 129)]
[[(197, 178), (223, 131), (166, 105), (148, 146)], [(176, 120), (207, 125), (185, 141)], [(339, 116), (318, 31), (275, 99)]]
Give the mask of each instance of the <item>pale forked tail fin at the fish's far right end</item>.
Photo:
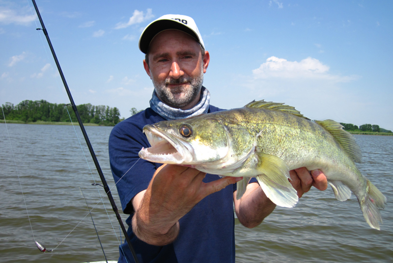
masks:
[(378, 190), (374, 184), (367, 180), (367, 192), (363, 200), (359, 200), (365, 221), (370, 227), (379, 230), (379, 223), (382, 224), (381, 213), (379, 209), (384, 209), (386, 197)]

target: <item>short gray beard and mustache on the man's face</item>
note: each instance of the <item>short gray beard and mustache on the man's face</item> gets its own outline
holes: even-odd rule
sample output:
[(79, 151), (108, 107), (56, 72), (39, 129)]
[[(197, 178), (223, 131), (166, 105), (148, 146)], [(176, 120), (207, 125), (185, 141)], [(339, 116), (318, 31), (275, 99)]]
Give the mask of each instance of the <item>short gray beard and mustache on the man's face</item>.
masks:
[[(168, 88), (168, 84), (177, 85), (189, 82), (189, 87)], [(180, 108), (189, 105), (199, 95), (203, 83), (203, 71), (195, 78), (180, 77), (179, 79), (165, 79), (162, 82), (153, 80), (154, 89), (163, 103)]]

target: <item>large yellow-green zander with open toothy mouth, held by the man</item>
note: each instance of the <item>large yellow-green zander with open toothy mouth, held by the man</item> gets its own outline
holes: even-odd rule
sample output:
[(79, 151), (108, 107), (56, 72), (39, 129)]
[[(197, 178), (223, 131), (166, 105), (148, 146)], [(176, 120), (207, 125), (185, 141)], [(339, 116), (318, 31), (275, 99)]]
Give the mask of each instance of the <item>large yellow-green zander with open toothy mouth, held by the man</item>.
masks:
[(146, 125), (143, 132), (151, 147), (142, 148), (140, 158), (243, 177), (237, 183), (237, 199), (255, 177), (276, 205), (294, 207), (298, 196), (288, 181), (289, 170), (320, 169), (339, 201), (352, 191), (370, 227), (379, 229), (382, 223), (379, 209), (386, 197), (360, 173), (354, 163), (362, 158), (359, 146), (333, 120), (313, 122), (292, 106), (262, 100)]

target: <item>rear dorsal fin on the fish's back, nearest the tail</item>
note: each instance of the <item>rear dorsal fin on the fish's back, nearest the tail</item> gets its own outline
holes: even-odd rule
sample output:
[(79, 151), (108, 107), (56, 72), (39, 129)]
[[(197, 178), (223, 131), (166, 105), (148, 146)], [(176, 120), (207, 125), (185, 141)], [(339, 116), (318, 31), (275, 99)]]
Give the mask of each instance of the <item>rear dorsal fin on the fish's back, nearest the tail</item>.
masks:
[(362, 162), (362, 152), (359, 146), (356, 144), (351, 133), (342, 130), (343, 126), (341, 124), (333, 120), (315, 122), (333, 135), (336, 141), (354, 162)]

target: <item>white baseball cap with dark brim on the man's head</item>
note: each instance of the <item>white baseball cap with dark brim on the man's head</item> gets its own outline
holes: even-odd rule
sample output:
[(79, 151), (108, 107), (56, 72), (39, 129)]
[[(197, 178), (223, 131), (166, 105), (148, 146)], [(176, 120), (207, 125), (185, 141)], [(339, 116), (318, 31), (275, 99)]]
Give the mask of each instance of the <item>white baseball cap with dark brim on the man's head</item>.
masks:
[(151, 40), (161, 31), (168, 29), (181, 30), (192, 37), (205, 49), (202, 37), (200, 36), (197, 24), (194, 19), (183, 15), (165, 15), (154, 20), (143, 30), (139, 38), (139, 49), (143, 53), (147, 53)]

